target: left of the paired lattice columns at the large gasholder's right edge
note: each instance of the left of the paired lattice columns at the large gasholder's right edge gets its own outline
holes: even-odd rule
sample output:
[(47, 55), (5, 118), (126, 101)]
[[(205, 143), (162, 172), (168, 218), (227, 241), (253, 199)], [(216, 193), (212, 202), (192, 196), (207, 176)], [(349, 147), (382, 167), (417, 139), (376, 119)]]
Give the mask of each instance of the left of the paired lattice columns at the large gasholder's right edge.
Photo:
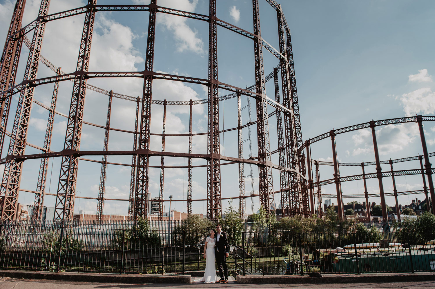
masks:
[[(297, 91), (296, 91), (296, 79), (294, 78), (294, 65), (293, 65), (293, 55), (291, 52), (291, 39), (290, 35), (287, 33), (287, 41), (284, 37), (284, 23), (283, 23), (283, 13), (281, 6), (278, 5), (277, 10), (278, 19), (278, 39), (279, 39), (279, 50), (284, 57), (281, 57), (281, 86), (282, 86), (282, 98), (283, 105), (289, 110), (294, 112), (294, 107), (298, 109), (297, 105)], [(289, 71), (290, 70), (290, 71)], [(296, 103), (294, 102), (296, 100)], [(287, 150), (287, 167), (300, 171), (300, 160), (298, 153), (298, 140), (296, 132), (296, 118), (294, 114), (284, 113), (284, 132), (285, 132), (285, 143)], [(300, 134), (301, 135), (301, 134)], [(302, 142), (302, 140), (301, 140)], [(302, 145), (302, 143), (301, 143)], [(305, 159), (302, 159), (305, 164)], [(288, 173), (288, 186), (289, 186), (289, 207), (290, 214), (292, 216), (302, 215), (304, 213), (304, 205), (302, 198), (302, 182), (301, 178), (297, 173)]]

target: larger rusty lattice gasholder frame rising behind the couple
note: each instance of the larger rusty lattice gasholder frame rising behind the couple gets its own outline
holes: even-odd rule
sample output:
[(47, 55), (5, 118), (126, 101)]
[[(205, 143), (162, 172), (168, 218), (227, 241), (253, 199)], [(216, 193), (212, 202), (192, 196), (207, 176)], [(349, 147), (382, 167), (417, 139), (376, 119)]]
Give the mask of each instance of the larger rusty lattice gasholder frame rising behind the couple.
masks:
[[(100, 186), (97, 199), (97, 221), (101, 220), (104, 212), (104, 189), (106, 183), (107, 165), (131, 166), (131, 186), (129, 195), (129, 219), (147, 216), (148, 196), (149, 196), (149, 169), (159, 167), (161, 169), (160, 189), (159, 189), (159, 217), (162, 217), (163, 210), (163, 193), (164, 193), (164, 169), (171, 167), (164, 165), (165, 156), (178, 156), (188, 158), (188, 182), (187, 182), (187, 212), (192, 213), (192, 168), (202, 167), (193, 166), (193, 158), (202, 158), (207, 160), (207, 216), (214, 219), (222, 213), (222, 196), (221, 196), (221, 166), (230, 163), (238, 163), (239, 179), (244, 179), (244, 163), (258, 166), (259, 173), (259, 193), (261, 206), (270, 211), (274, 203), (274, 190), (272, 181), (272, 170), (278, 169), (280, 175), (283, 176), (280, 185), (284, 188), (281, 190), (288, 201), (286, 214), (297, 215), (307, 212), (308, 198), (304, 189), (305, 184), (305, 167), (303, 162), (304, 156), (298, 153), (298, 148), (301, 147), (301, 124), (299, 118), (299, 109), (297, 101), (297, 93), (295, 86), (294, 64), (291, 50), (290, 30), (288, 23), (285, 20), (281, 7), (274, 0), (268, 0), (267, 3), (276, 10), (279, 29), (277, 31), (280, 39), (279, 49), (271, 46), (267, 40), (261, 37), (260, 29), (260, 0), (252, 0), (252, 15), (254, 29), (252, 32), (234, 26), (231, 23), (225, 22), (218, 18), (217, 1), (210, 0), (210, 9), (208, 15), (199, 13), (191, 13), (161, 7), (157, 0), (151, 0), (148, 5), (99, 5), (97, 0), (88, 0), (87, 5), (75, 9), (62, 11), (58, 13), (48, 13), (50, 0), (41, 1), (41, 8), (38, 18), (29, 24), (22, 26), (22, 14), (26, 0), (17, 1), (13, 17), (11, 20), (10, 30), (7, 35), (5, 48), (2, 55), (1, 63), (1, 90), (0, 101), (2, 103), (2, 126), (0, 131), (0, 142), (3, 143), (5, 136), (10, 136), (10, 148), (5, 158), (0, 162), (6, 166), (3, 175), (3, 186), (1, 187), (1, 196), (3, 197), (2, 204), (2, 219), (13, 220), (16, 218), (17, 198), (20, 190), (20, 177), (23, 163), (26, 159), (41, 159), (40, 174), (38, 185), (35, 191), (35, 206), (37, 213), (34, 214), (34, 219), (40, 219), (41, 210), (43, 207), (45, 192), (45, 182), (47, 178), (47, 167), (50, 158), (61, 157), (61, 169), (59, 183), (56, 193), (55, 219), (71, 220), (74, 213), (74, 200), (76, 198), (77, 171), (79, 161), (92, 161), (101, 163)], [(97, 12), (104, 11), (146, 11), (149, 14), (148, 31), (147, 31), (147, 47), (145, 56), (145, 67), (143, 71), (133, 72), (91, 72), (89, 71), (90, 49), (92, 43), (92, 35), (94, 30), (94, 20)], [(171, 75), (166, 73), (157, 73), (153, 71), (154, 67), (154, 46), (156, 33), (156, 15), (157, 13), (172, 14), (179, 17), (187, 17), (190, 19), (200, 20), (208, 23), (209, 27), (209, 53), (208, 53), (208, 78), (200, 79), (188, 76)], [(77, 60), (76, 70), (74, 72), (65, 73), (60, 67), (56, 67), (47, 58), (40, 55), (40, 50), (43, 41), (43, 31), (47, 22), (55, 21), (65, 17), (73, 17), (75, 15), (84, 14), (84, 25), (80, 42), (80, 52)], [(255, 84), (240, 88), (228, 83), (221, 83), (218, 80), (218, 27), (223, 27), (241, 37), (251, 39), (254, 44), (254, 70)], [(33, 38), (27, 38), (27, 34), (33, 32)], [(21, 83), (16, 81), (17, 64), (20, 56), (22, 43), (25, 43), (30, 49), (29, 59), (27, 61), (26, 73)], [(278, 58), (279, 64), (273, 72), (268, 75), (264, 74), (263, 50), (271, 53)], [(43, 63), (55, 72), (55, 76), (37, 78), (37, 68), (39, 63)], [(280, 96), (279, 91), (275, 91), (274, 99), (266, 95), (265, 83), (272, 78), (278, 81), (278, 72), (281, 71), (281, 81), (285, 88)], [(133, 97), (122, 93), (115, 93), (112, 90), (88, 84), (87, 81), (91, 78), (107, 78), (107, 77), (136, 77), (144, 80), (144, 89), (142, 96)], [(190, 100), (190, 101), (166, 101), (157, 100), (152, 97), (153, 80), (172, 80), (181, 81), (184, 83), (197, 83), (208, 87), (208, 98), (206, 100)], [(70, 80), (74, 82), (73, 92), (70, 103), (70, 111), (67, 115), (56, 111), (58, 85), (61, 81)], [(45, 106), (38, 100), (33, 99), (33, 91), (38, 86), (48, 83), (54, 83), (55, 88), (52, 97), (51, 106)], [(224, 89), (230, 94), (219, 96), (218, 89)], [(106, 126), (89, 123), (83, 120), (84, 100), (87, 89), (97, 91), (109, 96), (109, 107), (107, 110)], [(9, 102), (14, 94), (20, 94), (19, 107), (15, 114), (14, 125), (12, 132), (6, 131), (6, 123), (9, 117)], [(219, 102), (238, 98), (240, 106), (240, 97), (242, 95), (253, 97), (256, 102), (256, 119), (249, 121), (247, 124), (241, 123), (241, 115), (239, 116), (238, 126), (220, 130), (219, 129)], [(135, 128), (131, 130), (120, 130), (110, 127), (110, 112), (111, 100), (113, 97), (124, 100), (135, 101), (137, 103), (137, 123)], [(44, 146), (27, 143), (28, 120), (30, 118), (30, 110), (33, 103), (49, 110), (49, 119), (47, 122), (47, 131)], [(178, 136), (189, 136), (188, 153), (171, 153), (165, 152), (165, 136), (173, 136), (165, 133), (165, 129), (161, 134), (151, 133), (151, 105), (163, 105), (166, 109), (167, 105), (189, 105), (192, 111), (192, 105), (207, 104), (208, 105), (208, 129), (205, 133), (192, 133), (192, 113), (190, 113), (190, 125), (188, 134), (178, 134)], [(268, 109), (272, 111), (268, 113)], [(60, 152), (50, 150), (51, 135), (53, 130), (54, 114), (58, 114), (67, 118), (67, 131), (64, 140), (64, 149)], [(284, 119), (285, 129), (290, 130), (290, 133), (284, 133), (281, 126), (280, 143), (288, 146), (281, 149), (281, 160), (279, 164), (271, 162), (271, 145), (269, 137), (269, 117), (275, 116), (282, 120)], [(284, 117), (283, 117), (284, 116)], [(165, 122), (165, 117), (164, 117)], [(97, 126), (105, 130), (104, 147), (101, 151), (86, 152), (80, 150), (80, 137), (82, 126), (91, 125)], [(239, 145), (239, 155), (237, 158), (222, 156), (220, 152), (220, 134), (231, 130), (238, 130), (239, 143), (242, 141), (242, 129), (255, 125), (257, 126), (258, 135), (258, 160), (244, 159), (243, 147)], [(165, 126), (164, 126), (165, 127)], [(116, 130), (124, 133), (134, 134), (133, 149), (130, 151), (110, 151), (109, 147), (109, 132)], [(150, 136), (162, 136), (161, 152), (153, 152), (150, 150)], [(198, 155), (192, 154), (192, 136), (207, 135), (207, 154)], [(27, 155), (24, 153), (25, 147), (31, 146), (41, 150), (39, 154)], [(102, 160), (86, 159), (84, 156), (101, 156)], [(107, 156), (110, 155), (131, 155), (132, 163), (110, 163), (107, 161)], [(150, 157), (160, 156), (161, 166), (151, 166)], [(174, 166), (172, 166), (174, 167)], [(181, 166), (178, 166), (181, 167)], [(185, 167), (185, 166), (182, 166)], [(302, 168), (302, 169), (300, 169)], [(285, 177), (284, 177), (285, 176)], [(285, 181), (284, 181), (285, 180)], [(289, 183), (292, 180), (293, 183)], [(306, 187), (306, 186), (305, 186)], [(25, 190), (30, 191), (30, 190)], [(289, 193), (290, 192), (290, 193)], [(251, 196), (255, 196), (251, 194)], [(251, 197), (249, 196), (249, 197)], [(242, 216), (246, 216), (246, 208), (244, 204), (245, 192), (244, 185), (239, 187), (239, 199)], [(296, 200), (296, 201), (295, 201)], [(175, 200), (174, 200), (175, 201)], [(304, 203), (305, 202), (305, 203)]]

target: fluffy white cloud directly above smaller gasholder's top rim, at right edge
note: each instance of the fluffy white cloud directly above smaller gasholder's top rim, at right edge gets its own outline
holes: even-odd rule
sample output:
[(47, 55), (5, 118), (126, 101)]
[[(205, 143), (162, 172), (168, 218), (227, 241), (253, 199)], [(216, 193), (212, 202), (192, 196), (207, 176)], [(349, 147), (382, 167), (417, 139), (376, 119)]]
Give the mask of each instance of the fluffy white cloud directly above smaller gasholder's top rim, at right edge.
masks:
[(418, 113), (433, 114), (435, 112), (435, 93), (429, 87), (404, 93), (400, 101), (406, 116)]

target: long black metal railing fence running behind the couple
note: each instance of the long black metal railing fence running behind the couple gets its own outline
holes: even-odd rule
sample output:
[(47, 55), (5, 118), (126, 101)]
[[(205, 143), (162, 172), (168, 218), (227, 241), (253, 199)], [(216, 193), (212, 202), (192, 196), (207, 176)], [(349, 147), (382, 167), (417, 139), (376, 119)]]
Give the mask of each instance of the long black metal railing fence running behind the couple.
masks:
[[(434, 272), (434, 232), (268, 230), (231, 236), (232, 275)], [(4, 223), (0, 268), (184, 274), (205, 268), (206, 234), (122, 223)]]

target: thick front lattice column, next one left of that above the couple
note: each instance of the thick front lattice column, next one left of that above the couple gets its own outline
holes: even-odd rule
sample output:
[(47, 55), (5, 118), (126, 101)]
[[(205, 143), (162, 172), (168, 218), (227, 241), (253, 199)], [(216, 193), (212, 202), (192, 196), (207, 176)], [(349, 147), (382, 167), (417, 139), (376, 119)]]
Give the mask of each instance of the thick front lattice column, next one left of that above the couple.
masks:
[(142, 95), (141, 130), (139, 134), (139, 153), (137, 158), (136, 196), (134, 219), (146, 218), (149, 192), (149, 149), (151, 133), (151, 99), (153, 91), (154, 40), (156, 32), (157, 0), (151, 0), (148, 21), (147, 55), (145, 57), (144, 92)]

